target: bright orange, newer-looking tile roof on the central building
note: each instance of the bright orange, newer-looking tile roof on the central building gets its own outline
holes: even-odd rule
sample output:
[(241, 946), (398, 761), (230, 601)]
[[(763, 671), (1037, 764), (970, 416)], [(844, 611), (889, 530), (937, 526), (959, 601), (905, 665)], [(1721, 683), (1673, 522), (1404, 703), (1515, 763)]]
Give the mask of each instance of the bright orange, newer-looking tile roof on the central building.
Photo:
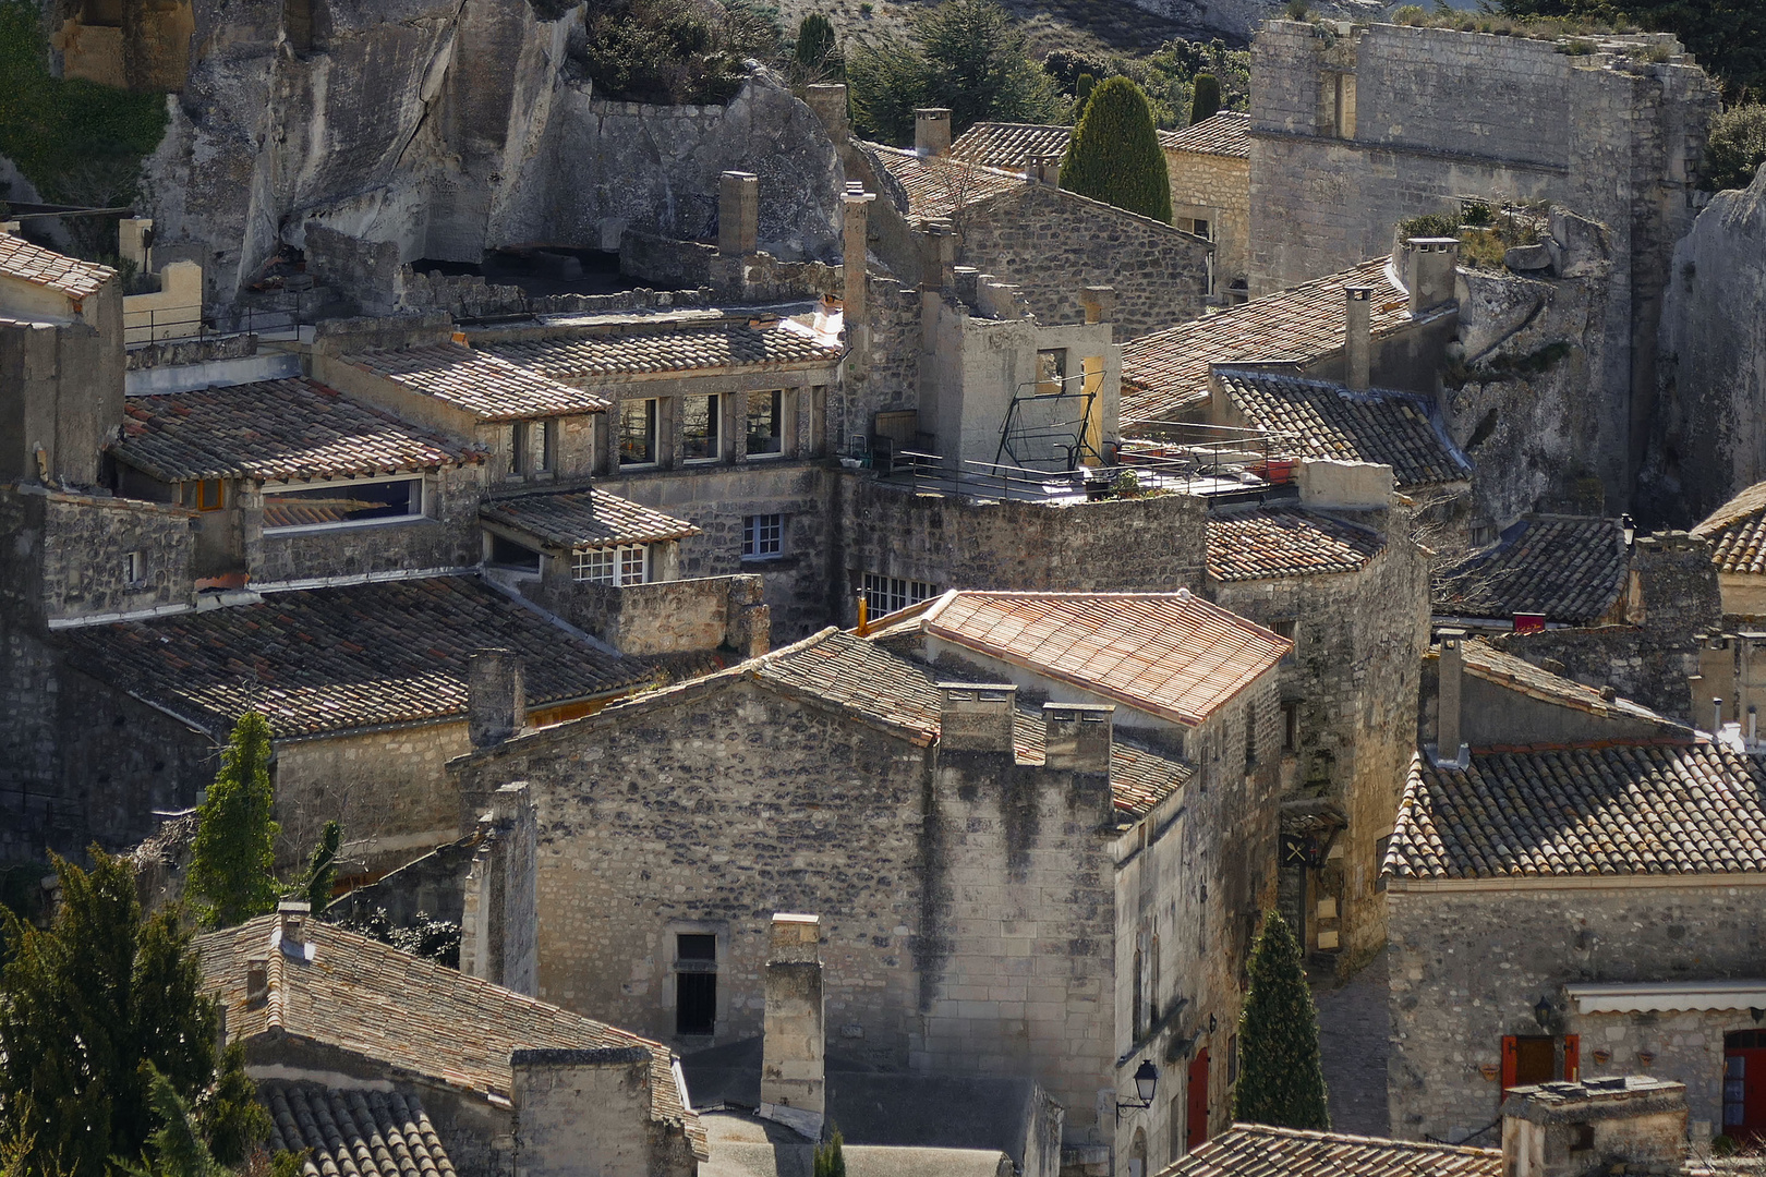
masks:
[(1189, 591), (945, 593), (920, 632), (1196, 725), (1293, 646)]

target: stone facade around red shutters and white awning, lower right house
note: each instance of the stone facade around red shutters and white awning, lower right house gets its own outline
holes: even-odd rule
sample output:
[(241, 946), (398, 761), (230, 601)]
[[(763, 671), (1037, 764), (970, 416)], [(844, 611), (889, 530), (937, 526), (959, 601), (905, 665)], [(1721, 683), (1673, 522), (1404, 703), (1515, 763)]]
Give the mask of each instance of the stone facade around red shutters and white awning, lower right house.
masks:
[[(1505, 1034), (1545, 1032), (1581, 1036), (1584, 1076), (1648, 1071), (1687, 1083), (1694, 1136), (1722, 1129), (1724, 1031), (1754, 1029), (1747, 1009), (1579, 1015), (1563, 986), (1759, 976), (1766, 889), (1757, 882), (1395, 886), (1388, 903), (1395, 1136), (1460, 1140), (1489, 1124), (1499, 1092), (1480, 1068), (1499, 1064)], [(1554, 1006), (1543, 1031), (1533, 1015), (1542, 995)], [(1611, 1057), (1600, 1061), (1598, 1050)]]

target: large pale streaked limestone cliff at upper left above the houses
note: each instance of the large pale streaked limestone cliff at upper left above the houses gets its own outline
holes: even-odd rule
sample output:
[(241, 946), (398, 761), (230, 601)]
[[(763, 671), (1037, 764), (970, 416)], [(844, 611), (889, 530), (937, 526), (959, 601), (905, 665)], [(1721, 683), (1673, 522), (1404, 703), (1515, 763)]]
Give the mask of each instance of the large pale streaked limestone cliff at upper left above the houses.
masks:
[(722, 108), (606, 102), (572, 58), (576, 9), (530, 0), (196, 0), (189, 81), (143, 189), (161, 258), (212, 305), (309, 224), (399, 261), (502, 245), (698, 236), (717, 176), (761, 175), (761, 244), (837, 252), (839, 159), (758, 71)]

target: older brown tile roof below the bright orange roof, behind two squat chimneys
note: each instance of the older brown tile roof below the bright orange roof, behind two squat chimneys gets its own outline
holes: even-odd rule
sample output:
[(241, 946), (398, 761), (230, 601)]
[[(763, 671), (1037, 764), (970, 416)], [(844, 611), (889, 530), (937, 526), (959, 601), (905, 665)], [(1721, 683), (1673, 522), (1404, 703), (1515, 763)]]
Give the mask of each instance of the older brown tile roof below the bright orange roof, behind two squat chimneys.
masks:
[[(950, 679), (950, 674), (934, 674), (924, 662), (902, 658), (841, 630), (823, 630), (729, 672), (749, 672), (775, 686), (832, 702), (872, 723), (908, 729), (920, 743), (938, 739), (943, 709), (938, 683)], [(1017, 757), (1040, 764), (1044, 736), (1042, 716), (1021, 709), (1012, 738)], [(1183, 761), (1125, 743), (1118, 734), (1111, 748), (1111, 792), (1116, 808), (1125, 817), (1143, 817), (1183, 787), (1192, 771)]]

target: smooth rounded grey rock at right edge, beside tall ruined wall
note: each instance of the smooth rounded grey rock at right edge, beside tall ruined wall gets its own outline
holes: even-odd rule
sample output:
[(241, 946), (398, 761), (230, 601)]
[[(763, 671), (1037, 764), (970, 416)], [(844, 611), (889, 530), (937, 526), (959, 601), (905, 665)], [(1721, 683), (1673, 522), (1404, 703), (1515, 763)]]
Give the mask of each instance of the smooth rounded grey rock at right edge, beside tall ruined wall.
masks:
[(1639, 485), (1648, 519), (1688, 526), (1766, 478), (1766, 168), (1718, 192), (1674, 247), (1660, 395)]

